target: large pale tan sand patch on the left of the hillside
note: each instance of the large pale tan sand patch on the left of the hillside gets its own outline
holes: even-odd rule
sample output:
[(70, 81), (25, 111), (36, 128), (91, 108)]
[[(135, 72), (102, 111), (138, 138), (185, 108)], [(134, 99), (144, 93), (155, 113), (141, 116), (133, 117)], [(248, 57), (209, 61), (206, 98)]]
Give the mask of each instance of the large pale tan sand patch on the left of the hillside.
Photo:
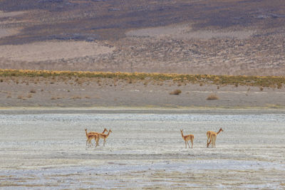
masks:
[(42, 61), (98, 56), (115, 48), (86, 41), (46, 41), (23, 45), (0, 46), (0, 55), (9, 60)]

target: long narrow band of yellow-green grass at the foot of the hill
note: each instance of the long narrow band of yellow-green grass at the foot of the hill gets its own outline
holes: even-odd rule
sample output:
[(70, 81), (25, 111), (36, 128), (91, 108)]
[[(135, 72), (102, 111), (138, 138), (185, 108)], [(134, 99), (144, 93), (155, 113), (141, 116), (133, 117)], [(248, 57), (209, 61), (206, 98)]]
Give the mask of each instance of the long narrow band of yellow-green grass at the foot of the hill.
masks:
[(59, 71), (59, 70), (0, 70), (0, 77), (51, 77), (59, 78), (113, 78), (115, 80), (127, 80), (133, 83), (135, 80), (172, 80), (178, 83), (197, 83), (214, 85), (247, 85), (269, 88), (282, 88), (285, 84), (285, 76), (247, 76), (247, 75), (187, 75), (167, 73), (110, 73), (89, 71)]

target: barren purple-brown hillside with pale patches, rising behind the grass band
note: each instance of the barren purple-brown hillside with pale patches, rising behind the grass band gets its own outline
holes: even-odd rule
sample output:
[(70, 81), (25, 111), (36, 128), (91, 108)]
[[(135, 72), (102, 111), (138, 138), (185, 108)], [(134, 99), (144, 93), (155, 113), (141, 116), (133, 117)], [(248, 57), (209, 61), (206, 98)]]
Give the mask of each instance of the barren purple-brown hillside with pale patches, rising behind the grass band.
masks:
[(0, 68), (284, 75), (279, 0), (2, 0)]

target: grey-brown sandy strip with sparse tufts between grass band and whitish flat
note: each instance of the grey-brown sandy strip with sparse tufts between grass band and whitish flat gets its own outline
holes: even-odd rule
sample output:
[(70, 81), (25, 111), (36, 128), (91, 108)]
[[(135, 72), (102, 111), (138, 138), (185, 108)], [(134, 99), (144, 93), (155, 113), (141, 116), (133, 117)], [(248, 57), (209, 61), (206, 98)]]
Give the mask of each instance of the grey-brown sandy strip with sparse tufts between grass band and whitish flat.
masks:
[[(285, 107), (284, 87), (108, 78), (0, 78), (0, 107)], [(170, 95), (174, 90), (180, 95)], [(216, 95), (218, 100), (207, 100)]]

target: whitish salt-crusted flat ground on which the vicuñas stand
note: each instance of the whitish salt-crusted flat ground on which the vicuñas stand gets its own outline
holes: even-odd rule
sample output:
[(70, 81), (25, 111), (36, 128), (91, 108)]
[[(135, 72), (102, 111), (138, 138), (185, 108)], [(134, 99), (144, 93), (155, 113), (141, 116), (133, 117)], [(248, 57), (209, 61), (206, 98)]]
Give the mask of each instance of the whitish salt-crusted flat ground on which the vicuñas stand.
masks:
[[(0, 110), (1, 189), (284, 189), (284, 110)], [(112, 133), (86, 147), (84, 128)], [(206, 131), (218, 134), (206, 148)], [(180, 129), (194, 134), (185, 149)]]

